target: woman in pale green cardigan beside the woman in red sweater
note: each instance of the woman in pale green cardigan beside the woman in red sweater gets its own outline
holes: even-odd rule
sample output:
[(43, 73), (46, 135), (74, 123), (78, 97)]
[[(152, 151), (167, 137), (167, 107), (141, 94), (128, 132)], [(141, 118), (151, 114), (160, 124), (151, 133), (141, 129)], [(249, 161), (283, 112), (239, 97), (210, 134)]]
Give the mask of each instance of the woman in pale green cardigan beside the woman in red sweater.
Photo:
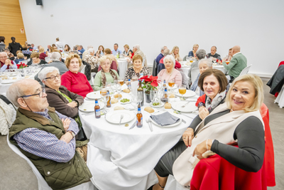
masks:
[(94, 77), (94, 90), (100, 90), (107, 82), (113, 83), (114, 80), (119, 79), (119, 74), (117, 74), (116, 70), (110, 68), (111, 58), (102, 56), (102, 58), (99, 58), (99, 65), (102, 67), (102, 70)]

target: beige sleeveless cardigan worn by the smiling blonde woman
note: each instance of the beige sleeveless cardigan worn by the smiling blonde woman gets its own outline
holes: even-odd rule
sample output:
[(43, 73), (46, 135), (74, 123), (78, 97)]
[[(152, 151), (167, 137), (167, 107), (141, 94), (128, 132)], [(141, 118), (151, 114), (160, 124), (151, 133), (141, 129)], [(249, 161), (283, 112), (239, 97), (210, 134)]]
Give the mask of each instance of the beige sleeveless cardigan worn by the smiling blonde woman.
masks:
[[(213, 115), (217, 112), (223, 112), (227, 109), (228, 107), (226, 103), (224, 103), (216, 107), (210, 113), (210, 115)], [(175, 179), (183, 186), (189, 186), (194, 170), (192, 164), (196, 159), (195, 157), (192, 157), (192, 154), (197, 144), (200, 144), (206, 139), (217, 139), (223, 144), (228, 144), (229, 142), (234, 141), (234, 131), (236, 130), (236, 127), (250, 116), (258, 117), (258, 119), (263, 123), (259, 110), (255, 112), (244, 112), (243, 110), (229, 112), (226, 115), (222, 115), (221, 117), (212, 120), (205, 126), (204, 120), (200, 122), (200, 125), (196, 127), (195, 132), (197, 131), (198, 127), (204, 127), (192, 139), (191, 147), (185, 149), (185, 151), (180, 154), (180, 157), (178, 157), (178, 159), (176, 159), (175, 163), (173, 164), (173, 174), (175, 176)]]

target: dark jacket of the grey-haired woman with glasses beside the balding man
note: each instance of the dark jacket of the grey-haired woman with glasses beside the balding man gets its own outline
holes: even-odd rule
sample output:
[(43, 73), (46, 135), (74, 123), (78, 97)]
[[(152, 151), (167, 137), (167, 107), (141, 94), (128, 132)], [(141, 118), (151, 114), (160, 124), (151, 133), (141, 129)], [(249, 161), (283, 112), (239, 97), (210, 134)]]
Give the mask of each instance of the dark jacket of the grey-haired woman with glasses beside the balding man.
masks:
[[(84, 98), (81, 95), (71, 93), (65, 86), (61, 85), (59, 90), (61, 93), (67, 95), (67, 97), (70, 97), (70, 99), (75, 100), (78, 106), (82, 105), (84, 102)], [(53, 88), (49, 88), (45, 85), (45, 93), (48, 95), (47, 98), (50, 107), (54, 107), (56, 111), (67, 117), (76, 117), (78, 115), (78, 107), (70, 107), (67, 105), (69, 102), (66, 98)]]

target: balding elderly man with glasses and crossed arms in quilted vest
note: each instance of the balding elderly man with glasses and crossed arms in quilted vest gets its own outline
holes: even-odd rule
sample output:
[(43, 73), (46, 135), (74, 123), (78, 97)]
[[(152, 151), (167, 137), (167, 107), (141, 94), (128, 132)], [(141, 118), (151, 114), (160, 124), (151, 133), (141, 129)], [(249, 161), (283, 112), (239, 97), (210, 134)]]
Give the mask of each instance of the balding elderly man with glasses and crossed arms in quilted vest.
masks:
[(69, 189), (89, 181), (87, 141), (75, 141), (77, 122), (48, 106), (45, 89), (36, 80), (19, 80), (6, 94), (18, 107), (9, 140), (31, 160), (48, 185)]

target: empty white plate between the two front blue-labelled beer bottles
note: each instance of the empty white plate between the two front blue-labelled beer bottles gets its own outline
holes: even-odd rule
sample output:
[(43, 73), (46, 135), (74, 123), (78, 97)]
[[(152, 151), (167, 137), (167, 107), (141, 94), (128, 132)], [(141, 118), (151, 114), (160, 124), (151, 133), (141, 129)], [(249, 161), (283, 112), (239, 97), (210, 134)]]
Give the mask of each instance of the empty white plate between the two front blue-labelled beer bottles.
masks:
[(130, 122), (135, 118), (135, 114), (133, 111), (129, 110), (113, 110), (107, 112), (106, 120), (113, 124), (119, 124), (120, 116), (124, 115), (124, 118), (121, 120), (122, 123)]

